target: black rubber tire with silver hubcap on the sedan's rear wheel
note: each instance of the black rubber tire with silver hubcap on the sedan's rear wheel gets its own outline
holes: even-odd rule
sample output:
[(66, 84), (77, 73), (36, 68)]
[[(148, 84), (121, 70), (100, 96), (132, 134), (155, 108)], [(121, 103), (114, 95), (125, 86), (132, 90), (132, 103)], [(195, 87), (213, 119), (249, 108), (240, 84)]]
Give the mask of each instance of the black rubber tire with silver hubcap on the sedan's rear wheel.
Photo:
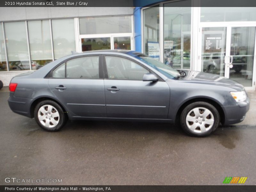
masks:
[[(48, 111), (47, 105), (53, 107), (51, 113)], [(46, 125), (46, 121), (45, 120), (42, 120), (43, 121), (43, 122), (41, 121), (42, 123), (40, 122), (39, 117), (38, 117), (38, 113), (39, 113), (39, 109), (41, 107), (43, 107), (43, 106), (46, 106), (46, 107), (44, 107), (44, 109), (47, 109), (46, 112), (48, 112), (50, 114), (46, 113), (46, 115), (45, 115), (45, 114), (43, 114), (41, 112), (42, 118), (44, 118), (43, 116), (47, 116), (47, 117), (45, 117), (45, 118), (47, 118), (45, 120), (48, 121), (48, 119), (49, 119), (49, 122), (50, 122), (49, 126), (54, 126), (54, 124), (52, 124), (52, 121), (50, 121), (51, 118), (53, 118), (53, 120), (55, 120), (54, 122), (58, 122), (54, 127), (45, 126)], [(55, 114), (56, 111), (59, 113), (58, 118), (57, 117), (51, 117), (51, 115)], [(36, 107), (35, 107), (34, 117), (35, 117), (36, 123), (40, 127), (42, 127), (44, 130), (49, 131), (49, 132), (59, 131), (60, 128), (62, 128), (66, 124), (66, 122), (67, 122), (67, 116), (64, 114), (64, 112), (63, 112), (62, 108), (60, 107), (60, 105), (58, 103), (52, 101), (52, 100), (43, 100), (43, 101), (39, 102), (36, 105)], [(45, 125), (43, 125), (43, 123)]]

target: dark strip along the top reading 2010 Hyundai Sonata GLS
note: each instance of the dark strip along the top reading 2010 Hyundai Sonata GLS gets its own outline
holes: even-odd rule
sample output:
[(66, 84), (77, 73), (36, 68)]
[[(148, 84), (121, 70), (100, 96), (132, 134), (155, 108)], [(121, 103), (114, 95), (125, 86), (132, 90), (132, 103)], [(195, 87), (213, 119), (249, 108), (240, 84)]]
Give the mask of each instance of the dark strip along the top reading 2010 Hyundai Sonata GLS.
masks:
[[(150, 7), (161, 0), (1, 0), (0, 7)], [(169, 1), (170, 2), (170, 1)], [(168, 2), (168, 3), (169, 3)], [(192, 3), (193, 2), (193, 3)], [(163, 4), (160, 4), (163, 6)], [(255, 0), (174, 0), (172, 7), (256, 7)]]

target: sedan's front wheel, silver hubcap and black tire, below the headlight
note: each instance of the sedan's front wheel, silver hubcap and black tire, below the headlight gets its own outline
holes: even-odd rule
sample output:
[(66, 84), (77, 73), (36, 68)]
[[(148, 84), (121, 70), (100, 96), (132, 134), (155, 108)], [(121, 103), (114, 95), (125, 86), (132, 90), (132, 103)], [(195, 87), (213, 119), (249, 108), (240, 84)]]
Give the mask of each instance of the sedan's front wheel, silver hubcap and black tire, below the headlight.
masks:
[[(196, 114), (194, 113), (194, 109), (196, 111), (196, 108), (198, 108), (199, 116), (198, 115), (196, 116)], [(205, 115), (203, 116), (203, 112), (206, 111), (206, 109), (208, 109), (211, 113), (205, 117)], [(187, 116), (192, 118), (192, 120), (195, 122), (193, 121), (187, 122), (186, 121)], [(206, 122), (209, 122), (212, 125), (207, 124)], [(213, 131), (217, 129), (219, 124), (220, 124), (220, 114), (218, 110), (212, 104), (207, 102), (199, 101), (199, 102), (191, 103), (183, 109), (180, 115), (181, 128), (189, 135), (196, 136), (196, 137), (205, 137), (210, 135)], [(190, 126), (190, 128), (188, 126)], [(202, 129), (200, 126), (203, 126)], [(192, 131), (193, 129), (194, 131)]]

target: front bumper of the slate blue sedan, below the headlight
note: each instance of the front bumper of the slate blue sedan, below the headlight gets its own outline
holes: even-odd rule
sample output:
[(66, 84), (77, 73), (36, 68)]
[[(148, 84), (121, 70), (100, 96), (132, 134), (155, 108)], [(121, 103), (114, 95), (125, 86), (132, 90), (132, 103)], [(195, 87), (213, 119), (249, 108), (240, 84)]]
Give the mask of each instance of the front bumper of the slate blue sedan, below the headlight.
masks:
[(250, 100), (247, 97), (245, 101), (237, 103), (235, 106), (224, 106), (222, 107), (225, 113), (224, 124), (236, 124), (244, 120), (247, 111), (250, 108)]

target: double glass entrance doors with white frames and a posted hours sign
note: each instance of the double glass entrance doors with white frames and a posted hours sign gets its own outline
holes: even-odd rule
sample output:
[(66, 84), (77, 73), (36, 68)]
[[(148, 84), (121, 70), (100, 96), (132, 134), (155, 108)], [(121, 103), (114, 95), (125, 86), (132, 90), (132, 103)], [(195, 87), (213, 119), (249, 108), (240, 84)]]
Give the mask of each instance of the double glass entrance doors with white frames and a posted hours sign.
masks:
[(256, 27), (203, 27), (201, 71), (253, 86)]

